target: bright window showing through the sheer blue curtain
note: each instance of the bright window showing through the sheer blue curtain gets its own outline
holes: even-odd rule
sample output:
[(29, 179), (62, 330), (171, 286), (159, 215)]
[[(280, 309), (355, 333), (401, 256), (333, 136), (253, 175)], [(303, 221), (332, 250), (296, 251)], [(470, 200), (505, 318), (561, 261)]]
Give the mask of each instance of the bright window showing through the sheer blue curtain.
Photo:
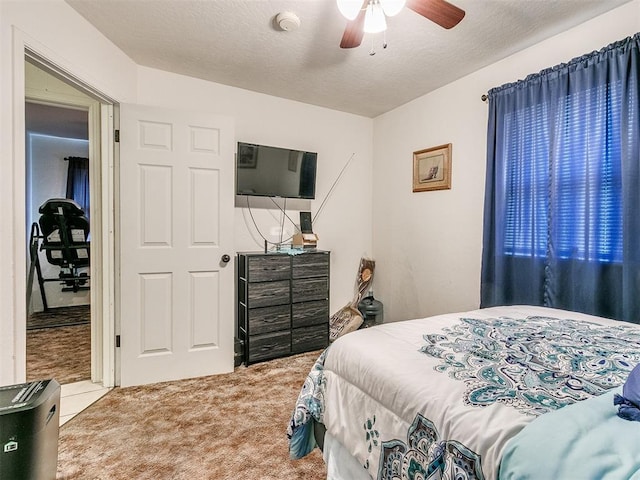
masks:
[(621, 261), (620, 102), (618, 82), (507, 115), (506, 255)]

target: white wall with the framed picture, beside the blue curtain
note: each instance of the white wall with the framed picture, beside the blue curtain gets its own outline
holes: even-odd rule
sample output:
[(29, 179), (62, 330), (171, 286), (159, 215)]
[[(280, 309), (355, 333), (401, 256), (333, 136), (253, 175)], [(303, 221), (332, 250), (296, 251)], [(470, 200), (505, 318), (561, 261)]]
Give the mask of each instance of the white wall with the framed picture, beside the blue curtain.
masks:
[[(634, 0), (374, 121), (373, 246), (385, 321), (478, 308), (490, 88), (640, 31)], [(412, 152), (453, 144), (451, 190), (412, 193)]]

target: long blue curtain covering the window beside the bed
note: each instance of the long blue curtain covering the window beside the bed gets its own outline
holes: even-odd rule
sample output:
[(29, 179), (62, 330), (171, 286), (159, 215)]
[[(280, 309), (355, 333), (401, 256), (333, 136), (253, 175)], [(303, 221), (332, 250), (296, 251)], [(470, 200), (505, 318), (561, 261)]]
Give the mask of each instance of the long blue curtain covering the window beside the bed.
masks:
[(489, 92), (481, 305), (640, 323), (640, 34)]

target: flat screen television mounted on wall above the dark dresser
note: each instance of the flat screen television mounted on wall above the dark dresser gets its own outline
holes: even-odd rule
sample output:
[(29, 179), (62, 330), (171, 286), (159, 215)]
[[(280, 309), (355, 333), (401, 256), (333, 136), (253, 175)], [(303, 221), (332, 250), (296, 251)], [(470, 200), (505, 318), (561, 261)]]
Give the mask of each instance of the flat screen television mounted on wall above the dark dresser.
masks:
[(318, 154), (238, 142), (236, 194), (313, 199)]

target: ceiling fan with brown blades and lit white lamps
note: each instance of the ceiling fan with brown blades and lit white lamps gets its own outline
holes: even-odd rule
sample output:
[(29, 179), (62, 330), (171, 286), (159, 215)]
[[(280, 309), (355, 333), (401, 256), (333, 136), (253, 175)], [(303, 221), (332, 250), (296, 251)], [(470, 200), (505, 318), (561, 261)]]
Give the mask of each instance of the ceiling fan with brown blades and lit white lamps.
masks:
[(385, 16), (396, 15), (405, 6), (443, 28), (453, 28), (464, 18), (464, 10), (445, 0), (337, 0), (338, 9), (349, 23), (340, 48), (354, 48), (362, 43), (365, 32), (386, 30)]

